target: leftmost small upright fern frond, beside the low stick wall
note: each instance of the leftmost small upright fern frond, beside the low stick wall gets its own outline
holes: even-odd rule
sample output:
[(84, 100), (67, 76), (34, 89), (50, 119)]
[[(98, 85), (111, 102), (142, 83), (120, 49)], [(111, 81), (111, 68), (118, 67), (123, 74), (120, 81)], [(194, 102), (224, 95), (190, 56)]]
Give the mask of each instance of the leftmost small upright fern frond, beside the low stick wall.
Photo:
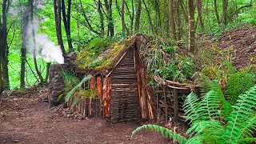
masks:
[(186, 115), (186, 121), (193, 122), (198, 116), (199, 98), (193, 92), (190, 93), (184, 102), (184, 110)]

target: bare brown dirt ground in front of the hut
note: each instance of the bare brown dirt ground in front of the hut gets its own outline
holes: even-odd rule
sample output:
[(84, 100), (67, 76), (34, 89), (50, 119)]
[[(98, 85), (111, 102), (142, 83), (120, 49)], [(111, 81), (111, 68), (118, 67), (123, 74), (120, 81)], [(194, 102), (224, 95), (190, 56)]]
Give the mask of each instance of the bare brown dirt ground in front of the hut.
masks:
[(140, 124), (111, 124), (104, 118), (64, 118), (60, 107), (49, 108), (42, 94), (0, 101), (0, 143), (171, 143), (157, 132), (142, 130)]

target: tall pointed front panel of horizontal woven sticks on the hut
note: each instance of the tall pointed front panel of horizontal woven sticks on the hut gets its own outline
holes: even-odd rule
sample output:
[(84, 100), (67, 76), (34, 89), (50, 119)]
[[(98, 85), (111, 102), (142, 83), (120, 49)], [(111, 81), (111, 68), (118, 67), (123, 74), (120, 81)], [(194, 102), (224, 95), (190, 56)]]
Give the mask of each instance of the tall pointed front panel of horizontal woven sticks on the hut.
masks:
[(110, 74), (111, 122), (126, 122), (140, 118), (138, 106), (138, 79), (135, 70), (134, 49), (122, 56)]

